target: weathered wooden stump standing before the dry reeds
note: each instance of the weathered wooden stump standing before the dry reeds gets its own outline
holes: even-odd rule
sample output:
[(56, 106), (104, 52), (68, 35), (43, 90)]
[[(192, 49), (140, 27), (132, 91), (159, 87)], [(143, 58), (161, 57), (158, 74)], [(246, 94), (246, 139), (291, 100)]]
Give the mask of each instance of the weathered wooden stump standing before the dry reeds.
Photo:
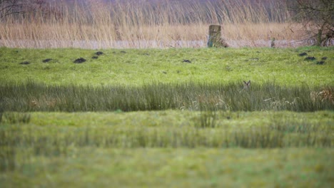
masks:
[(221, 26), (209, 26), (208, 47), (228, 47), (226, 41), (221, 38)]

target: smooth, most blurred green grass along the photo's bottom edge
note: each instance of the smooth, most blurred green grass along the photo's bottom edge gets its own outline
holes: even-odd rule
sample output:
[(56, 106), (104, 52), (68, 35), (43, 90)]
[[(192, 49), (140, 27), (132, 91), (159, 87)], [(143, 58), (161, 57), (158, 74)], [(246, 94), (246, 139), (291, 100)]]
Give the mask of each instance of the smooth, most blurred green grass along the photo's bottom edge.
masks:
[[(21, 155), (25, 155), (22, 152)], [(26, 157), (1, 187), (332, 187), (333, 149), (74, 148)]]

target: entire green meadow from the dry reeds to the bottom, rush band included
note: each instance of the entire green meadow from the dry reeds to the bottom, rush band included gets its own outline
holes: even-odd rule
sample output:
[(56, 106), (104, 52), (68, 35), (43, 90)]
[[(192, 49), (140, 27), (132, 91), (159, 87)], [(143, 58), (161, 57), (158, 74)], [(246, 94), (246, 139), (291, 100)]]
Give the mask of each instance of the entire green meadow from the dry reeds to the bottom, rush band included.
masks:
[(0, 187), (333, 187), (333, 47), (101, 51), (0, 48)]

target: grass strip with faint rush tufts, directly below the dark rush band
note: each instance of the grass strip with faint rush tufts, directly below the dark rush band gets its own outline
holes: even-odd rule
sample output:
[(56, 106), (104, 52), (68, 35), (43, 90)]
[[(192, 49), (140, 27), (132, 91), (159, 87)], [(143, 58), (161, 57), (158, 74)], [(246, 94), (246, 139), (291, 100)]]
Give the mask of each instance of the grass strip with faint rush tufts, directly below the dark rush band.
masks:
[(60, 155), (71, 147), (332, 147), (333, 111), (4, 113), (3, 146)]

